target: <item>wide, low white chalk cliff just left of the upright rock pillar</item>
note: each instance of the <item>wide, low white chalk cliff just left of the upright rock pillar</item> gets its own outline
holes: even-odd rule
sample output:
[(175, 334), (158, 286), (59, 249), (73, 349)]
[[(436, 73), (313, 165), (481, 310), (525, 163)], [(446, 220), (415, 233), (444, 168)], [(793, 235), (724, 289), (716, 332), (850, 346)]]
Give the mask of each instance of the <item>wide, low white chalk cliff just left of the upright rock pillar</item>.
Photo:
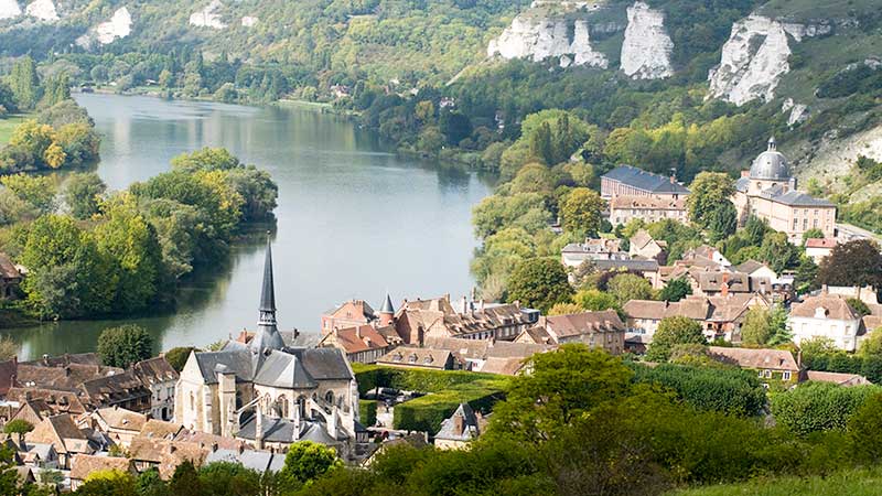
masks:
[[(570, 39), (572, 25), (572, 39)], [(518, 15), (512, 25), (496, 40), (490, 42), (487, 56), (503, 58), (528, 58), (540, 62), (548, 57), (561, 57), (561, 65), (587, 65), (606, 68), (609, 61), (591, 47), (589, 24), (576, 20), (544, 19)]]

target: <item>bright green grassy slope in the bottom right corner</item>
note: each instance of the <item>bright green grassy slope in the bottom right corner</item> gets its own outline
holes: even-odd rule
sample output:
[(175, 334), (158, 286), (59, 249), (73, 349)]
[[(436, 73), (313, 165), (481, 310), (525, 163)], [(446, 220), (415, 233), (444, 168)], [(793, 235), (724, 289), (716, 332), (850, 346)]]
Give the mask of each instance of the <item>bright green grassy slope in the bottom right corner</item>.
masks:
[(668, 496), (875, 496), (882, 487), (882, 470), (840, 472), (828, 477), (757, 478), (743, 484), (708, 486), (669, 493)]

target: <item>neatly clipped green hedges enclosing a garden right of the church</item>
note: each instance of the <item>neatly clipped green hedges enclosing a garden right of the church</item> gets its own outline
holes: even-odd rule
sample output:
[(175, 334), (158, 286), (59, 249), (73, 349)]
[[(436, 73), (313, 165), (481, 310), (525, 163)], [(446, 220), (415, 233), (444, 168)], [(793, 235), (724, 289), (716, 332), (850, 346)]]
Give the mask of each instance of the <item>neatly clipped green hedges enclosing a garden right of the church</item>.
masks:
[(427, 395), (395, 406), (392, 427), (437, 433), (441, 421), (467, 402), (475, 411), (490, 411), (503, 398), (508, 378), (462, 370), (423, 370), (353, 364), (358, 392), (395, 388)]

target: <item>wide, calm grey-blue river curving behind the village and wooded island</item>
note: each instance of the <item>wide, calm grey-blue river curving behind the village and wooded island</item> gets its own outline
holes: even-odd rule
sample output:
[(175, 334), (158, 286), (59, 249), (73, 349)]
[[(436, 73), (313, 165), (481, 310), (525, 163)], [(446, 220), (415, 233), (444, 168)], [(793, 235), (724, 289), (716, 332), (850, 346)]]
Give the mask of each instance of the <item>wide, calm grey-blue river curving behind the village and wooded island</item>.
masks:
[[(272, 239), (280, 328), (318, 332), (320, 315), (348, 299), (378, 308), (404, 298), (465, 294), (476, 246), (471, 208), (492, 179), (401, 158), (351, 120), (293, 107), (243, 107), (152, 97), (77, 95), (101, 133), (97, 172), (121, 190), (169, 170), (171, 158), (225, 147), (279, 185)], [(173, 313), (69, 321), (8, 331), (20, 359), (94, 351), (101, 330), (148, 328), (155, 348), (206, 346), (255, 327), (263, 228), (227, 263), (183, 281)], [(169, 291), (174, 291), (169, 288)]]

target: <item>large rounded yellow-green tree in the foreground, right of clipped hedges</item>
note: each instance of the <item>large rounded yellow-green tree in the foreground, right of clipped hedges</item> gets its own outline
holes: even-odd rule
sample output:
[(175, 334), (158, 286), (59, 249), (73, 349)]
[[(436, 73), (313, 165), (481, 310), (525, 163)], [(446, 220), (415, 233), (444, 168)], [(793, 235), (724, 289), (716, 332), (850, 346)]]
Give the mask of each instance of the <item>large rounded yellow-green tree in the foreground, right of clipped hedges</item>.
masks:
[(620, 359), (584, 345), (536, 354), (529, 368), (530, 374), (512, 380), (505, 401), (494, 407), (488, 433), (528, 442), (548, 440), (631, 388), (632, 371)]

